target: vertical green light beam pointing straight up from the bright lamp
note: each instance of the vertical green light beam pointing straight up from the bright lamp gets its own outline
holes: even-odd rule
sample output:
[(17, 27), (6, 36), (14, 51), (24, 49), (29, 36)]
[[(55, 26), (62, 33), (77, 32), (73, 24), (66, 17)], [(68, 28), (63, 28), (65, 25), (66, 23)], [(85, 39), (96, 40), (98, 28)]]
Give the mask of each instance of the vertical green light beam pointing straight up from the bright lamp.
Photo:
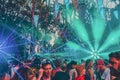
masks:
[(97, 14), (97, 12), (94, 13), (94, 16), (95, 17), (92, 23), (92, 33), (95, 40), (94, 49), (97, 50), (105, 30), (105, 20), (99, 14)]

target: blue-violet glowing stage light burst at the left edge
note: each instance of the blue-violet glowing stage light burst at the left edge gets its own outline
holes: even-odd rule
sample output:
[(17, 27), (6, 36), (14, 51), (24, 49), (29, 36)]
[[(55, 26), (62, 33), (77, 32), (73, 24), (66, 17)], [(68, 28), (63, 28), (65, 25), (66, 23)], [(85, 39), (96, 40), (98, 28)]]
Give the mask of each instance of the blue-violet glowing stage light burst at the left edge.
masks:
[[(14, 30), (12, 32), (7, 27), (7, 25), (0, 24), (0, 55), (3, 54), (6, 59), (11, 58), (6, 54), (16, 55), (16, 53), (19, 53), (18, 46), (24, 45), (16, 43), (16, 39), (18, 39), (18, 36), (14, 35)], [(4, 54), (3, 52), (5, 52), (6, 54)]]

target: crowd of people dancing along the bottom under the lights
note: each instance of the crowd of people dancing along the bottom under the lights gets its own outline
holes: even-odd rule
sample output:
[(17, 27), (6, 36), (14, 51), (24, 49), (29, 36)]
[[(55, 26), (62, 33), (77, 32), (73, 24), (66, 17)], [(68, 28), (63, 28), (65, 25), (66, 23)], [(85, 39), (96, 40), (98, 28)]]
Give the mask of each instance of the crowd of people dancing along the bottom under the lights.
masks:
[(62, 59), (8, 63), (0, 57), (0, 80), (120, 80), (120, 52), (110, 53), (109, 60), (81, 63)]

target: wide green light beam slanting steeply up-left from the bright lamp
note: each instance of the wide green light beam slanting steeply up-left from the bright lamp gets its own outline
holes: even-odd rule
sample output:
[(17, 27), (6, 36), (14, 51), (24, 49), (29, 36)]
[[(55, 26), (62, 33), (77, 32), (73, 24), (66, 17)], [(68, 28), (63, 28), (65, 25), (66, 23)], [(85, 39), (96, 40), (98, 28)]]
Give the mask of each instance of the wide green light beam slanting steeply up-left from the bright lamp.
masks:
[[(74, 10), (72, 9), (69, 9), (67, 10), (67, 16), (71, 17), (73, 16), (72, 13), (73, 13)], [(75, 15), (74, 15), (75, 16)], [(75, 32), (75, 34), (77, 35), (77, 37), (83, 41), (85, 41), (89, 48), (91, 50), (93, 50), (93, 46), (91, 45), (90, 41), (89, 41), (89, 37), (88, 37), (88, 33), (85, 29), (85, 26), (84, 24), (79, 20), (79, 17), (78, 16), (75, 16), (74, 18), (68, 18), (68, 22), (69, 20), (71, 21), (71, 29)]]

